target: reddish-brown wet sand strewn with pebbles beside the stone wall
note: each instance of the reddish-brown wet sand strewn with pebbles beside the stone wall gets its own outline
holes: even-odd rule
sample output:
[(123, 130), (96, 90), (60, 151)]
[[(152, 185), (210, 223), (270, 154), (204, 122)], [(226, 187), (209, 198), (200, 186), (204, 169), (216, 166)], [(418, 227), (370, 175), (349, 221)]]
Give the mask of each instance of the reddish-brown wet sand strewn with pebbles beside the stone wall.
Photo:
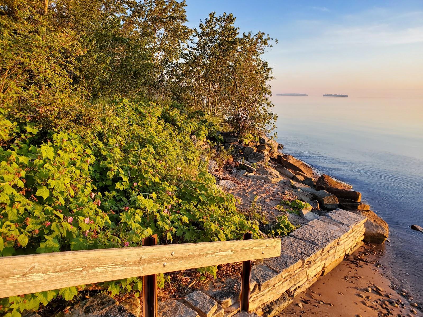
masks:
[(417, 307), (411, 305), (417, 299), (409, 300), (407, 294), (401, 295), (398, 293), (401, 290), (397, 292), (391, 288), (391, 281), (379, 264), (381, 249), (374, 245), (361, 247), (299, 294), (277, 316), (423, 316)]

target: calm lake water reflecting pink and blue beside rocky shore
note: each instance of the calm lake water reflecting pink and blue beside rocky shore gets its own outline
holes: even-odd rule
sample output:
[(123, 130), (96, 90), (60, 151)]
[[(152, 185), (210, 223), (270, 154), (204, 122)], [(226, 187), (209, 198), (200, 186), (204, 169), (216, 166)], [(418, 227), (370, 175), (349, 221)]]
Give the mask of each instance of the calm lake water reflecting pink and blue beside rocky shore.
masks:
[[(381, 264), (423, 300), (423, 99), (274, 96), (277, 141), (363, 194), (390, 227)], [(409, 274), (409, 275), (407, 275)]]

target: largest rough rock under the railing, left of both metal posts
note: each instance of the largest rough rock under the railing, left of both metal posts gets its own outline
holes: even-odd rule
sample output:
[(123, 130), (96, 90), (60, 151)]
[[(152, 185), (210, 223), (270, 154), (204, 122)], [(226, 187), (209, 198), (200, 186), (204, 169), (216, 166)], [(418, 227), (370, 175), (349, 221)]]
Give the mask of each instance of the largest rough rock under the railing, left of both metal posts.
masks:
[[(105, 293), (77, 303), (66, 317), (137, 317)], [(195, 316), (193, 316), (195, 317)]]

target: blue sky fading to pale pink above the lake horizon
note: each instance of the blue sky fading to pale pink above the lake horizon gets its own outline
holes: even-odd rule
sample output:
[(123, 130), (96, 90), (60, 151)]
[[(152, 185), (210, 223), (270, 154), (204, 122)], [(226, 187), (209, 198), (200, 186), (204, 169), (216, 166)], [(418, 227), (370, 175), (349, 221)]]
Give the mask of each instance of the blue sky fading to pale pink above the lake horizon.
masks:
[(278, 43), (263, 56), (276, 93), (423, 98), (423, 0), (187, 0), (188, 25), (233, 13)]

